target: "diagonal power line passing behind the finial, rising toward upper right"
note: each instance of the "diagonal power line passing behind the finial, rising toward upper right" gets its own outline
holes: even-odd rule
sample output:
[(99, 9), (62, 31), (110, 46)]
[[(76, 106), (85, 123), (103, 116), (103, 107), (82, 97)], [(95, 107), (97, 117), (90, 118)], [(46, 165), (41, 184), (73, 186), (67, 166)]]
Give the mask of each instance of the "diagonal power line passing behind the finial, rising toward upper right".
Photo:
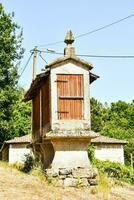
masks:
[[(131, 17), (134, 17), (134, 14), (128, 15), (127, 17), (121, 18), (121, 19), (119, 19), (119, 20), (117, 20), (117, 21), (114, 21), (114, 22), (112, 22), (112, 23), (110, 23), (110, 24), (107, 24), (107, 25), (105, 25), (105, 26), (101, 26), (100, 28), (94, 29), (94, 30), (92, 30), (92, 31), (88, 31), (88, 32), (86, 32), (86, 33), (77, 35), (77, 36), (75, 37), (75, 39), (78, 39), (78, 38), (80, 38), (80, 37), (84, 37), (84, 36), (86, 36), (86, 35), (90, 35), (90, 34), (92, 34), (92, 33), (95, 33), (95, 32), (101, 31), (101, 30), (103, 30), (103, 29), (109, 28), (110, 26), (113, 26), (113, 25), (115, 25), (115, 24), (118, 24), (118, 23), (120, 23), (120, 22), (122, 22), (122, 21), (125, 21), (125, 20), (131, 18)], [(63, 43), (63, 42), (64, 42), (64, 41), (61, 40), (61, 41), (57, 41), (57, 42), (46, 43), (46, 44), (44, 44), (44, 45), (38, 45), (38, 47), (52, 46), (52, 45), (60, 44), (60, 43)]]

